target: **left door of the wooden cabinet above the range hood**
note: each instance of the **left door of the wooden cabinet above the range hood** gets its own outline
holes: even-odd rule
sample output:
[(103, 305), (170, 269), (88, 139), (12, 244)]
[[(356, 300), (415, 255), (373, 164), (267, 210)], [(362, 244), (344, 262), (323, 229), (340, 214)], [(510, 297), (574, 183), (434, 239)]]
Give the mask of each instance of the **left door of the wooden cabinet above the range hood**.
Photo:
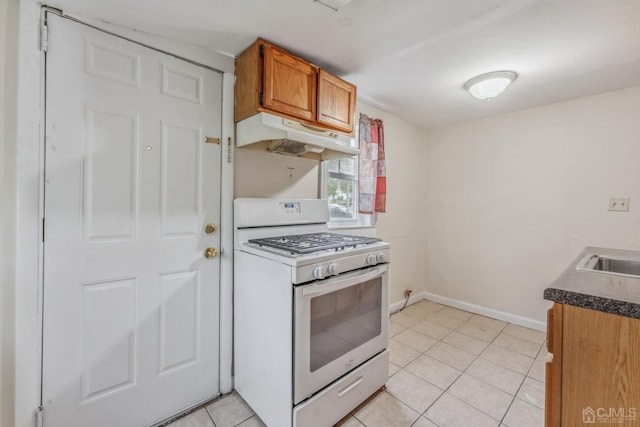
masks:
[(263, 107), (299, 117), (316, 118), (316, 68), (277, 47), (264, 45)]

